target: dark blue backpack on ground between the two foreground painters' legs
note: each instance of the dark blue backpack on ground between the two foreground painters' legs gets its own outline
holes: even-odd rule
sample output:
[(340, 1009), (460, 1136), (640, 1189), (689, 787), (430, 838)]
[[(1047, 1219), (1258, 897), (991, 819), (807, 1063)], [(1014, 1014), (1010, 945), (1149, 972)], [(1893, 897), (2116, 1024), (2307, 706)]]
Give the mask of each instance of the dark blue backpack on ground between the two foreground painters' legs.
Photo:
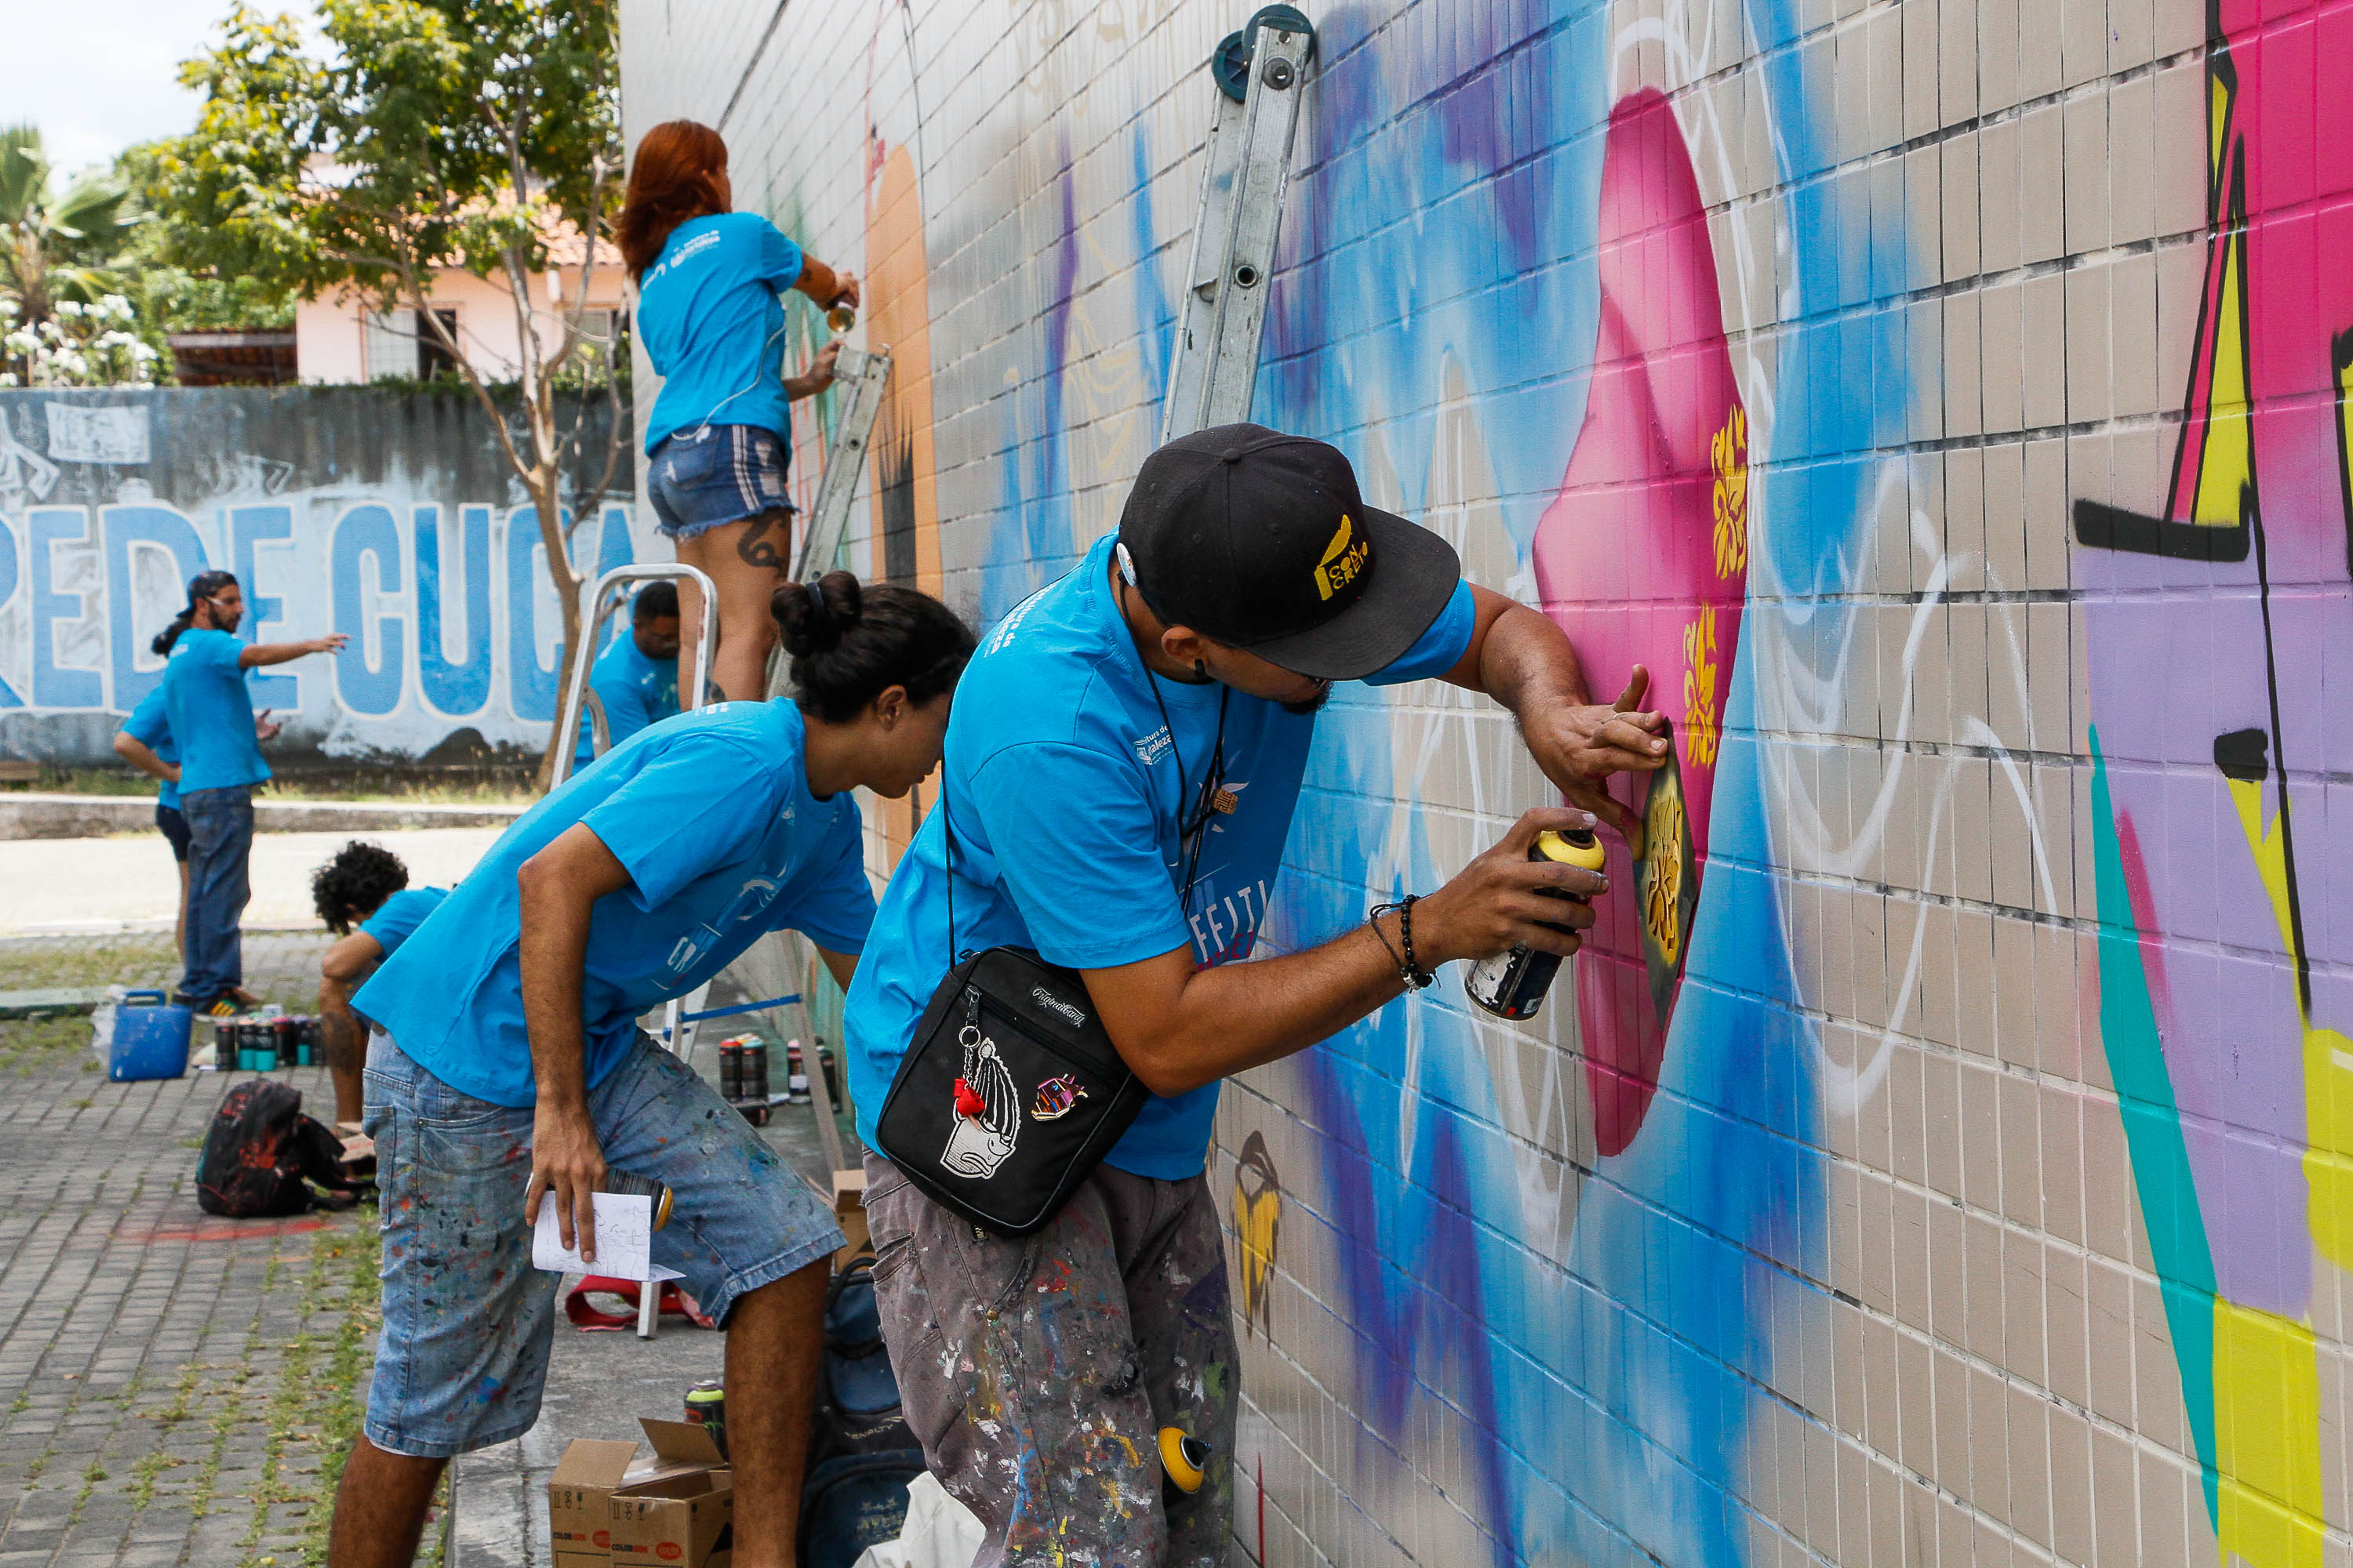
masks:
[(906, 1483), (920, 1474), (922, 1448), (882, 1349), (875, 1260), (859, 1258), (826, 1286), (826, 1359), (800, 1488), (802, 1568), (852, 1568), (866, 1547), (899, 1540)]

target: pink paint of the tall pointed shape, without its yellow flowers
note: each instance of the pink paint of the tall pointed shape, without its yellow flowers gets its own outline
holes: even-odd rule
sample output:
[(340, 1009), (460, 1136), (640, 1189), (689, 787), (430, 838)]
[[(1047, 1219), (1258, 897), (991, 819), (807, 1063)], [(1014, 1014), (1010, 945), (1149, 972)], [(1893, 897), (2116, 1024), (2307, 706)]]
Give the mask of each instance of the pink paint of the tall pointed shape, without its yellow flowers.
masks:
[[(1699, 181), (1675, 115), (1654, 89), (1628, 94), (1609, 110), (1598, 242), (1593, 383), (1560, 494), (1537, 524), (1537, 588), (1546, 614), (1577, 642), (1595, 696), (1617, 696), (1638, 663), (1649, 670), (1647, 705), (1678, 722), (1682, 790), (1704, 877), (1715, 764), (1692, 759), (1682, 724), (1682, 628), (1701, 607), (1715, 609), (1720, 724), (1746, 571), (1715, 574), (1711, 440), (1739, 407), (1739, 388)], [(1640, 790), (1621, 783), (1619, 797), (1640, 799)], [(1619, 891), (1598, 900), (1577, 966), (1586, 1088), (1602, 1154), (1633, 1143), (1666, 1051), (1666, 1018), (1652, 1006), (1642, 964), (1633, 867), (1624, 842), (1609, 853)]]

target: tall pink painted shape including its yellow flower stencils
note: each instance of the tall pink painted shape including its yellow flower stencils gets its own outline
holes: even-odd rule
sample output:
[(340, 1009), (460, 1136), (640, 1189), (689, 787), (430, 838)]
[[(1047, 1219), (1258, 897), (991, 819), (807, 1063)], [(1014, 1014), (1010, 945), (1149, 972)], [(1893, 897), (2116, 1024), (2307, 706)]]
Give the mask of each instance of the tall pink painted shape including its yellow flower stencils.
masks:
[(1640, 896), (1614, 900), (1577, 966), (1593, 1131), (1619, 1154), (1659, 1088), (1748, 581), (1748, 414), (1732, 381), (1692, 158), (1657, 89), (1609, 110), (1600, 331), (1586, 418), (1534, 538), (1537, 588), (1598, 689), (1640, 665), (1675, 717), (1645, 790)]

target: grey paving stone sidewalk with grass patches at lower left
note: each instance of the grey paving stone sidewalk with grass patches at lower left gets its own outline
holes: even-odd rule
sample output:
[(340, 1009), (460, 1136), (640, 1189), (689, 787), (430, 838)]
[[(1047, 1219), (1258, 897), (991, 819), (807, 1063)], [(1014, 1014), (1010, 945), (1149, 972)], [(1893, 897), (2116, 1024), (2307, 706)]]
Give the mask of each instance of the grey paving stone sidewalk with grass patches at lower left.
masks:
[[(289, 1006), (325, 936), (247, 943)], [(0, 985), (153, 985), (169, 938), (0, 943)], [(108, 1084), (89, 1023), (0, 1023), (0, 1566), (299, 1563), (374, 1335), (374, 1211), (219, 1220), (233, 1074)], [(287, 1077), (318, 1107), (322, 1070)]]

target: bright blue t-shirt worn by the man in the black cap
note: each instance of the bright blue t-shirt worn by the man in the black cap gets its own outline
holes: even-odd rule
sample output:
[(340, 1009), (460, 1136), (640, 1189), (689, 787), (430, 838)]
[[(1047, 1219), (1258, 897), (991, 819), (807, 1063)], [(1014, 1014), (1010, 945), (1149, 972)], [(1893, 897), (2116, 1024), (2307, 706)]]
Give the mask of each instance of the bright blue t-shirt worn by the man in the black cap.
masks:
[[(941, 823), (951, 813), (958, 952), (1035, 947), (1052, 964), (1115, 969), (1191, 945), (1207, 969), (1247, 957), (1266, 922), (1315, 717), (1214, 682), (1160, 679), (1162, 724), (1108, 567), (1104, 538), (1071, 576), (1005, 616), (958, 684), (944, 809), (925, 818), (882, 891), (842, 1020), (868, 1147), (915, 1020), (948, 971)], [(1372, 679), (1445, 675), (1473, 625), (1471, 590), (1457, 588), (1421, 642)], [(1209, 818), (1186, 914), (1176, 757), (1198, 792), (1221, 696), (1235, 809)], [(1160, 1180), (1200, 1175), (1214, 1117), (1217, 1084), (1155, 1095), (1108, 1161)]]

